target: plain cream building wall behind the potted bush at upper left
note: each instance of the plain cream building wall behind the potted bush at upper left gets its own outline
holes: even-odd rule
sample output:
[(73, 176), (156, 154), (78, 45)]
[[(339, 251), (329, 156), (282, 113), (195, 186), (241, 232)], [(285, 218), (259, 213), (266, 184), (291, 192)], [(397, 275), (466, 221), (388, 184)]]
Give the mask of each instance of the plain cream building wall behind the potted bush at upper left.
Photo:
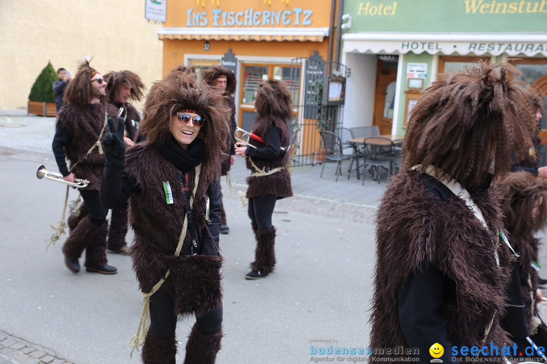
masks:
[[(84, 55), (101, 74), (131, 70), (146, 92), (161, 79), (161, 25), (144, 19), (144, 1), (0, 0), (0, 109), (26, 108), (51, 61), (76, 73)], [(144, 100), (142, 100), (142, 104)], [(141, 106), (141, 105), (136, 105)]]

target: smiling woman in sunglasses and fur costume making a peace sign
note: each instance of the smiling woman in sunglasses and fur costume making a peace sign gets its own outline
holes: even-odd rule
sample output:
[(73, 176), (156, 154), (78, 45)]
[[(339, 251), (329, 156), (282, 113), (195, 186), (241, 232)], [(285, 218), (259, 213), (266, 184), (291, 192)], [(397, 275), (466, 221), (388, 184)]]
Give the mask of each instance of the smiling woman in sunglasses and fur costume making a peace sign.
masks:
[(219, 178), (229, 117), (224, 105), (222, 91), (198, 86), (196, 74), (179, 67), (150, 89), (141, 122), (145, 142), (126, 153), (123, 118), (118, 127), (108, 121), (101, 201), (106, 208), (129, 201), (135, 232), (130, 254), (149, 305), (139, 325), (145, 329), (131, 346), (143, 344), (145, 364), (175, 362), (179, 315), (196, 316), (186, 364), (212, 364), (220, 349)]

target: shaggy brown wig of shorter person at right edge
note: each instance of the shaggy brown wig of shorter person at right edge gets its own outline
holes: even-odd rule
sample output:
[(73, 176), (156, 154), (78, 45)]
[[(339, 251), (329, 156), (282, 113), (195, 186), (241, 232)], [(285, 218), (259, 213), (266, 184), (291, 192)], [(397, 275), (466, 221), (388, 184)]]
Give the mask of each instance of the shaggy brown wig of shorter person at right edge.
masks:
[[(508, 174), (498, 188), (505, 214), (505, 229), (511, 235), (531, 240), (533, 234), (547, 223), (547, 180), (536, 178), (528, 172), (514, 172)], [(532, 210), (541, 198), (539, 214), (533, 218)]]

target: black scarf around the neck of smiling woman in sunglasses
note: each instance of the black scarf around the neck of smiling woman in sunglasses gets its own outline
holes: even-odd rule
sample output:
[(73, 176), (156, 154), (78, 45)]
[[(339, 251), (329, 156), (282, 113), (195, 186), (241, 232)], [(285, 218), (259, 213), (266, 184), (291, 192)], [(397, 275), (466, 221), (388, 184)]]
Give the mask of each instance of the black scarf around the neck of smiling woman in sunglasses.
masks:
[(183, 149), (170, 135), (165, 144), (154, 144), (154, 147), (181, 172), (195, 168), (205, 157), (205, 141), (201, 138), (196, 138), (188, 145), (188, 149)]

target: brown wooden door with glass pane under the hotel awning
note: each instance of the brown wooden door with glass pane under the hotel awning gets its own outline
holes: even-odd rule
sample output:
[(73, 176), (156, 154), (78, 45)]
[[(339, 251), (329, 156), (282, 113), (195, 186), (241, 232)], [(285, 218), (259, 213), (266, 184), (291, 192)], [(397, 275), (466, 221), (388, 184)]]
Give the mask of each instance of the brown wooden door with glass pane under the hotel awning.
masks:
[(382, 69), (382, 61), (379, 59), (376, 68), (373, 125), (378, 126), (380, 134), (391, 134), (396, 83), (397, 69)]

